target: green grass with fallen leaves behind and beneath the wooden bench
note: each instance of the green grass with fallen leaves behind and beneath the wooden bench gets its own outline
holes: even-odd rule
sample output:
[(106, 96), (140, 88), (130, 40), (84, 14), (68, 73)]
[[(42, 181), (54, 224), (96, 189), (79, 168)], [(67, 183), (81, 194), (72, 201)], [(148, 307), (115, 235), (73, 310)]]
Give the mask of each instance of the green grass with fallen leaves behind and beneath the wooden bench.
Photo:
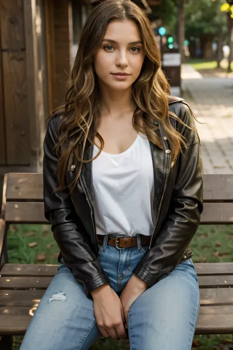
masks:
[[(30, 248), (29, 244), (37, 246)], [(8, 255), (11, 263), (57, 264), (58, 247), (53, 239), (49, 225), (11, 225), (8, 233)], [(233, 226), (200, 226), (191, 243), (194, 262), (233, 261)], [(46, 260), (36, 261), (38, 254)], [(23, 337), (14, 337), (14, 350), (19, 350)], [(228, 350), (232, 335), (195, 336), (192, 350)], [(128, 345), (116, 343), (111, 339), (100, 340), (91, 350), (128, 350)]]

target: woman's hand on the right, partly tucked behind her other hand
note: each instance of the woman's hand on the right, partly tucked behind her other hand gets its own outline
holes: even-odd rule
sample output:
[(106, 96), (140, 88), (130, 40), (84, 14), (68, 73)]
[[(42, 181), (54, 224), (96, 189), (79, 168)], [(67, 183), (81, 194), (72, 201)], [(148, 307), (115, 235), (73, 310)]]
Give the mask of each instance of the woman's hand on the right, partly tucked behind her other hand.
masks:
[(120, 300), (123, 306), (126, 328), (128, 328), (128, 312), (131, 305), (148, 287), (149, 286), (136, 275), (131, 276), (127, 285), (124, 287)]

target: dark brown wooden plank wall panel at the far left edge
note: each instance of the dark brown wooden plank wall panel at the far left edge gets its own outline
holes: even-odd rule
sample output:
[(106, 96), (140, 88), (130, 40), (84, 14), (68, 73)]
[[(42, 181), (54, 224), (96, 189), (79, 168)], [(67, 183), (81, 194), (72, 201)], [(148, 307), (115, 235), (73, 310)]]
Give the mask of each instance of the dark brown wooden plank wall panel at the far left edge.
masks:
[(28, 165), (29, 96), (23, 0), (0, 0), (0, 42), (5, 160), (8, 165)]

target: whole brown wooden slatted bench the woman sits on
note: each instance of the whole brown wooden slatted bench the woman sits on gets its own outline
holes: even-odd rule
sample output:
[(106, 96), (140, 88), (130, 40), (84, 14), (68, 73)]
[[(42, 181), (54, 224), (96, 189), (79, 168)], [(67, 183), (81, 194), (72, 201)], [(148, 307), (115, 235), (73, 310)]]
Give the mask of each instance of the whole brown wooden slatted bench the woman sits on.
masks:
[[(0, 219), (0, 349), (9, 335), (25, 334), (58, 265), (10, 264), (6, 236), (11, 223), (48, 223), (42, 174), (5, 175)], [(204, 175), (202, 224), (233, 224), (233, 175)], [(17, 234), (17, 233), (16, 233)], [(233, 334), (233, 262), (196, 263), (201, 310), (196, 334)]]

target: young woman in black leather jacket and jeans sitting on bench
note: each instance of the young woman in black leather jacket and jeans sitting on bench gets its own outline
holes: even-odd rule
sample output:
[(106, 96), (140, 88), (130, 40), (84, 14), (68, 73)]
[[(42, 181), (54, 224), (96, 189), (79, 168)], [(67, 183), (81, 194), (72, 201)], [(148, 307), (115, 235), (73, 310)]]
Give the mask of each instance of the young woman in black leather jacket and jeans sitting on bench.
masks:
[(48, 124), (44, 200), (60, 265), (21, 350), (88, 350), (101, 335), (128, 336), (131, 350), (191, 349), (199, 138), (130, 0), (87, 19), (65, 108)]

